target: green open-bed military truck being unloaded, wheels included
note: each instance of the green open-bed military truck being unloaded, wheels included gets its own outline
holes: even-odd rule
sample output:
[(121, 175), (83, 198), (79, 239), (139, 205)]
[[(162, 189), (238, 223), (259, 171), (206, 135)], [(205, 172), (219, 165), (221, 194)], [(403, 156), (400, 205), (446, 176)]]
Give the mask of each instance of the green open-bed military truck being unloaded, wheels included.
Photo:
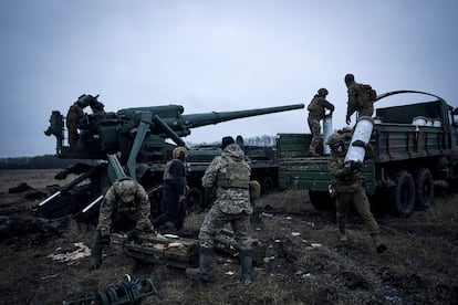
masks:
[[(402, 94), (433, 96), (430, 102), (376, 109), (369, 144), (375, 158), (364, 162), (363, 185), (373, 204), (398, 217), (433, 204), (435, 181), (456, 186), (458, 178), (458, 111), (434, 94), (396, 91), (378, 101)], [(329, 193), (332, 176), (329, 156), (306, 157), (311, 135), (279, 134), (280, 189), (308, 190), (311, 203), (320, 210), (333, 207)], [(383, 199), (383, 200), (379, 200)], [(381, 207), (382, 204), (383, 207)]]

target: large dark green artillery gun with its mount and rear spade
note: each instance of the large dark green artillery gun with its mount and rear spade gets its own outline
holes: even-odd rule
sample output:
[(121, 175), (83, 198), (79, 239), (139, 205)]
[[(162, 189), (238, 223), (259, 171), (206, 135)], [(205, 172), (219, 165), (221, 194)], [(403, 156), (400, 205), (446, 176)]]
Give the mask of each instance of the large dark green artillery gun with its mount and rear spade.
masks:
[[(75, 165), (64, 169), (56, 178), (64, 179), (70, 173), (77, 178), (39, 203), (38, 212), (43, 217), (59, 218), (71, 213), (83, 220), (94, 220), (104, 190), (124, 176), (137, 179), (145, 187), (152, 201), (152, 212), (158, 213), (165, 165), (171, 159), (171, 151), (176, 146), (186, 146), (183, 137), (188, 136), (192, 128), (304, 107), (303, 104), (294, 104), (185, 115), (181, 105), (164, 105), (105, 112), (97, 97), (82, 95), (76, 102), (82, 108), (90, 106), (92, 114), (85, 114), (79, 120), (79, 139), (73, 147), (65, 145), (65, 117), (59, 111), (51, 114), (45, 135), (55, 137), (58, 157), (75, 159)], [(191, 162), (188, 166), (188, 181), (192, 188), (189, 197), (191, 201), (201, 198), (198, 178), (211, 161), (208, 158), (212, 159), (215, 151), (211, 154), (207, 156), (208, 154), (197, 150), (189, 154)], [(200, 162), (199, 158), (207, 159)]]

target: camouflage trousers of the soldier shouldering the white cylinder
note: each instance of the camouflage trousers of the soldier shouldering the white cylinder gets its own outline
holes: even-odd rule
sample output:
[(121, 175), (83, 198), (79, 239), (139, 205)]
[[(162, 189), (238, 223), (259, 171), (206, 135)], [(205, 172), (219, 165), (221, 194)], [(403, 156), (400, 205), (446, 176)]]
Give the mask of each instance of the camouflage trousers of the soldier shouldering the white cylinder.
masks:
[(366, 192), (363, 187), (357, 188), (353, 192), (340, 192), (337, 191), (337, 199), (335, 201), (336, 207), (336, 222), (341, 232), (345, 231), (346, 218), (352, 206), (356, 208), (361, 218), (364, 220), (366, 230), (369, 235), (378, 234), (378, 224), (375, 221), (374, 215), (371, 212), (371, 203), (367, 199)]

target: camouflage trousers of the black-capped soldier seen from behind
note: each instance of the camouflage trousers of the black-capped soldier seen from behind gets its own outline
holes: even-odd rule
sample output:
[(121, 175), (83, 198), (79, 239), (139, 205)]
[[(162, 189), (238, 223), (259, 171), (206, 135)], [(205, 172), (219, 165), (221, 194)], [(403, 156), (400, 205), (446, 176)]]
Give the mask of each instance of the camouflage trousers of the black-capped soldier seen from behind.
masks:
[(251, 240), (248, 235), (250, 228), (250, 215), (241, 212), (229, 214), (221, 211), (219, 204), (214, 204), (204, 219), (199, 231), (199, 245), (204, 249), (214, 248), (214, 236), (230, 223), (235, 240), (240, 250), (251, 250)]

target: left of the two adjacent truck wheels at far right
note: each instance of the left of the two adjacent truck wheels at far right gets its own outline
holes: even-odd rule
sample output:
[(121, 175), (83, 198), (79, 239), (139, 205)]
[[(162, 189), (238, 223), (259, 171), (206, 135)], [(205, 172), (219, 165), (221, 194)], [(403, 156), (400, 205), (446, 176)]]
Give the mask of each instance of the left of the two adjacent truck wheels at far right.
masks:
[(414, 178), (407, 170), (396, 173), (396, 186), (391, 190), (393, 212), (397, 217), (407, 218), (415, 208), (415, 185)]

